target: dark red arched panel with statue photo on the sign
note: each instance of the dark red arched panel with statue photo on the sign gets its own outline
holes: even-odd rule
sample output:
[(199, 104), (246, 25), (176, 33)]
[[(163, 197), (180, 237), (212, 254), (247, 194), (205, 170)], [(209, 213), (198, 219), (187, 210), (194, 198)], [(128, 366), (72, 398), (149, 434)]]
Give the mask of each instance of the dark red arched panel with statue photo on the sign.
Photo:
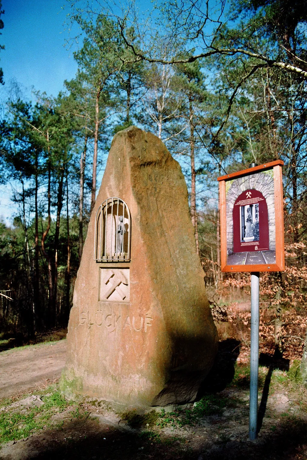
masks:
[(267, 251), (269, 221), (266, 199), (258, 190), (245, 190), (233, 206), (233, 252)]

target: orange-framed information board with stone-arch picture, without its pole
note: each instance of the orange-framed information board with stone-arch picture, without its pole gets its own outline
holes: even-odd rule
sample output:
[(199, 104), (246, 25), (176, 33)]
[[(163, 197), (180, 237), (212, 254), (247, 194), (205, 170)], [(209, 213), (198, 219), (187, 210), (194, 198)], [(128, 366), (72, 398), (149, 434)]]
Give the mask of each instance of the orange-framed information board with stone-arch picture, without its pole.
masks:
[(284, 270), (281, 160), (219, 177), (222, 271)]

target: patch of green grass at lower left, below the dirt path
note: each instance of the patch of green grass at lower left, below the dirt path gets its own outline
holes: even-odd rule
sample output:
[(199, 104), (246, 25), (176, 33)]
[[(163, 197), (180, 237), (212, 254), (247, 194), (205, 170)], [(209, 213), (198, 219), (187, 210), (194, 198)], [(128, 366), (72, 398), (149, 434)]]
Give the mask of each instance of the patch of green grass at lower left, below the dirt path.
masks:
[(34, 431), (51, 426), (52, 415), (63, 412), (68, 403), (59, 391), (42, 398), (44, 404), (28, 410), (8, 408), (0, 413), (0, 443), (28, 437)]

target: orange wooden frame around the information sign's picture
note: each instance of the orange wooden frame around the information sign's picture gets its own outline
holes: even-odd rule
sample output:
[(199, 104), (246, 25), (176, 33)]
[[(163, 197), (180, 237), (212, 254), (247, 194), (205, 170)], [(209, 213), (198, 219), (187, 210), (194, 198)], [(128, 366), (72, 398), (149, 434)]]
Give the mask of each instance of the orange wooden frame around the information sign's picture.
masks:
[[(221, 270), (224, 272), (234, 271), (284, 271), (284, 200), (282, 166), (284, 161), (277, 160), (265, 165), (244, 169), (237, 173), (221, 176), (217, 180), (220, 185), (220, 259)], [(226, 182), (235, 178), (260, 173), (268, 169), (273, 170), (274, 179), (274, 203), (275, 203), (275, 244), (276, 263), (259, 265), (227, 265), (227, 239), (226, 239)]]

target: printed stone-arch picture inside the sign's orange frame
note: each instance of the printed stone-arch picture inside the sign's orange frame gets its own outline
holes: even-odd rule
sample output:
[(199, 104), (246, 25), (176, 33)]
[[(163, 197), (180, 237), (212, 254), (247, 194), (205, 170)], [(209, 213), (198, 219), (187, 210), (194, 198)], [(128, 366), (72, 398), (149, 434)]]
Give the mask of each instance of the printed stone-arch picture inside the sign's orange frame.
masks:
[(276, 263), (273, 170), (226, 182), (227, 265)]

